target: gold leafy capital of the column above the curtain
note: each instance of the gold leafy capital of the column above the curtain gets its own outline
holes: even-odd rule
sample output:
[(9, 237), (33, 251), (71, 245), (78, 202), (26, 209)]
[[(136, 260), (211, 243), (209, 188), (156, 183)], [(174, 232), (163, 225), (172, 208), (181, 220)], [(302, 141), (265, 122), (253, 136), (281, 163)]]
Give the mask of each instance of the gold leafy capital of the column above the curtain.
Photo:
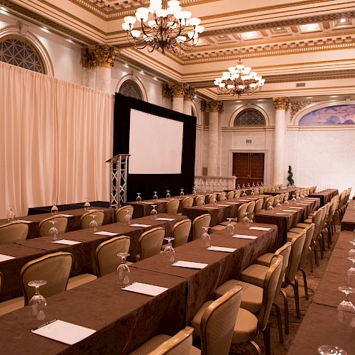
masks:
[(82, 66), (89, 69), (95, 67), (113, 67), (119, 50), (109, 45), (92, 45), (82, 48)]

